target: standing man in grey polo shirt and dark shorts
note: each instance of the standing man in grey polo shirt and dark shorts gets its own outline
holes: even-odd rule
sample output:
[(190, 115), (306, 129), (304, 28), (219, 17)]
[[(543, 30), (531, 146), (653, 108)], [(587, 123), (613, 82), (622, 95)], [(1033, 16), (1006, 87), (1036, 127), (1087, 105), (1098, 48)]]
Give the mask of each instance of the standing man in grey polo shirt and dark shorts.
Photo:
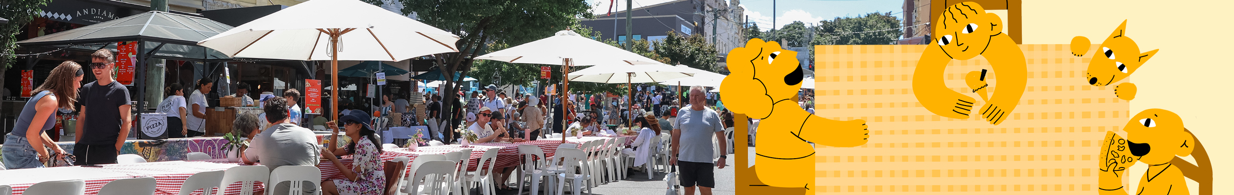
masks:
[(690, 86), (690, 106), (677, 111), (676, 123), (673, 125), (673, 157), (674, 163), (681, 170), (681, 186), (685, 186), (685, 195), (694, 195), (695, 185), (702, 195), (711, 195), (711, 189), (716, 188), (716, 176), (711, 167), (724, 168), (727, 156), (719, 156), (719, 160), (712, 163), (712, 136), (719, 139), (719, 148), (728, 141), (724, 137), (724, 125), (719, 122), (719, 115), (714, 110), (705, 106), (706, 98), (702, 86)]

